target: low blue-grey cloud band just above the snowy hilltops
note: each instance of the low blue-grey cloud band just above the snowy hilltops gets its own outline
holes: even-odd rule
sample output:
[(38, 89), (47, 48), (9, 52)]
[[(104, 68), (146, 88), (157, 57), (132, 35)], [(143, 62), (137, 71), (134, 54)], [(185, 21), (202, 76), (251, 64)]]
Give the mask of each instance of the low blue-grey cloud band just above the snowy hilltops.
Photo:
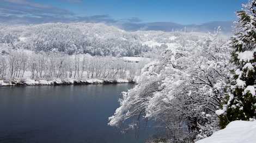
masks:
[(113, 25), (126, 31), (137, 30), (154, 30), (154, 31), (196, 31), (196, 32), (214, 32), (219, 26), (223, 33), (230, 34), (232, 21), (212, 21), (203, 24), (179, 24), (175, 22), (141, 22), (141, 21), (121, 21), (109, 17), (84, 17), (84, 18), (35, 18), (35, 17), (16, 17), (16, 16), (0, 16), (0, 24), (14, 25), (14, 24), (42, 24), (42, 23), (104, 23)]

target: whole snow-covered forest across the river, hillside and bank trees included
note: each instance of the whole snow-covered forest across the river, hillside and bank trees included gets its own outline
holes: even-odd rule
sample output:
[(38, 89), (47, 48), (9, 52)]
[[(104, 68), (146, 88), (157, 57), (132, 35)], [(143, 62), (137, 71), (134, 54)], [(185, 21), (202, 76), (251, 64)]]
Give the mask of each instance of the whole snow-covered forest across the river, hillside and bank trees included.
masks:
[(214, 38), (200, 32), (129, 32), (95, 23), (2, 25), (0, 33), (2, 86), (48, 85), (53, 80), (133, 81), (145, 64), (161, 58), (164, 49)]

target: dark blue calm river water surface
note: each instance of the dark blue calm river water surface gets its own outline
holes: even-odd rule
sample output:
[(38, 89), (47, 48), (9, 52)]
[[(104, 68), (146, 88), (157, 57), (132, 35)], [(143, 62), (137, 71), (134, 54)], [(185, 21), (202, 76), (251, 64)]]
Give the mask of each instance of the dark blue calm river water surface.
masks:
[(0, 87), (0, 142), (143, 142), (107, 125), (131, 84)]

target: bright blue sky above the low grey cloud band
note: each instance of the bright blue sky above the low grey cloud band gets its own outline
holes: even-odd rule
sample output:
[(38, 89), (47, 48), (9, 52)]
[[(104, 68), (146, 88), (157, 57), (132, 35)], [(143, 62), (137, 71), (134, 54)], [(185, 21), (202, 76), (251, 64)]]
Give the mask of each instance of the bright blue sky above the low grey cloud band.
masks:
[[(4, 16), (64, 17), (101, 16), (120, 21), (200, 24), (234, 21), (235, 11), (247, 0), (0, 0)], [(94, 17), (90, 17), (94, 18)], [(96, 17), (99, 18), (99, 17)]]

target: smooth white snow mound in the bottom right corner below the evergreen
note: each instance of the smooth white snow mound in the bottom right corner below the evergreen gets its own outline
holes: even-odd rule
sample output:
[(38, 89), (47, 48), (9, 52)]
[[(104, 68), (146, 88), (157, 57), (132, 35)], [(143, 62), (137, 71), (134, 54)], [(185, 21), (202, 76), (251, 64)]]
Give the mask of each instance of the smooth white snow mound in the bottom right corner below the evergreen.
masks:
[(215, 132), (211, 137), (196, 143), (255, 143), (256, 121), (233, 121), (229, 125)]

